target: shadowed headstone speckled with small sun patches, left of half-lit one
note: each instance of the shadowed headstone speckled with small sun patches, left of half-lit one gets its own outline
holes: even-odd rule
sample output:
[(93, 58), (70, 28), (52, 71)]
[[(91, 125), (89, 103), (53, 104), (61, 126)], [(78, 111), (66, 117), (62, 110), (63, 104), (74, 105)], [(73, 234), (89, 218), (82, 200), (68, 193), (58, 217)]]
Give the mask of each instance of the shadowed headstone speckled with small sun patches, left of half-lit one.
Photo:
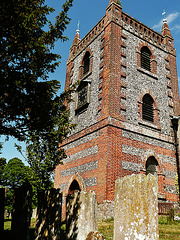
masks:
[(61, 229), (62, 193), (51, 189), (38, 193), (35, 240), (59, 240)]

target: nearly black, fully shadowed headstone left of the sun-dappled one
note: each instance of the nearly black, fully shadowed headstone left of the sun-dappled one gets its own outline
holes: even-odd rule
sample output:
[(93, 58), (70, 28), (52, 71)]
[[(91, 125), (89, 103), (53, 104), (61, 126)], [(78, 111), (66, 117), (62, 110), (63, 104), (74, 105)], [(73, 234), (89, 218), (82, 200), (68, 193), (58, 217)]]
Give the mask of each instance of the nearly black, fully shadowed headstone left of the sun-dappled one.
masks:
[(25, 183), (22, 187), (15, 189), (11, 225), (14, 239), (29, 239), (31, 199), (32, 187), (30, 184)]

